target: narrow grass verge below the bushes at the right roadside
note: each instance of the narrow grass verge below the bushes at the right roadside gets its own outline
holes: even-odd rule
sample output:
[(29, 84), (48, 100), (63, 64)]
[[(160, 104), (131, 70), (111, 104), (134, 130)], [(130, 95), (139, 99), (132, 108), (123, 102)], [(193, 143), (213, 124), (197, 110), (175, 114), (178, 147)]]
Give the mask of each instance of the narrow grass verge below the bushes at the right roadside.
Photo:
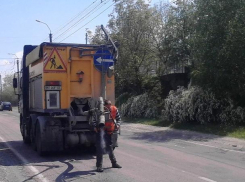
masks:
[(227, 126), (215, 124), (190, 124), (190, 123), (177, 123), (172, 124), (163, 122), (160, 119), (131, 119), (123, 118), (123, 121), (130, 123), (141, 123), (152, 126), (170, 127), (180, 130), (197, 131), (201, 133), (215, 134), (219, 136), (229, 136), (239, 139), (245, 139), (245, 126)]

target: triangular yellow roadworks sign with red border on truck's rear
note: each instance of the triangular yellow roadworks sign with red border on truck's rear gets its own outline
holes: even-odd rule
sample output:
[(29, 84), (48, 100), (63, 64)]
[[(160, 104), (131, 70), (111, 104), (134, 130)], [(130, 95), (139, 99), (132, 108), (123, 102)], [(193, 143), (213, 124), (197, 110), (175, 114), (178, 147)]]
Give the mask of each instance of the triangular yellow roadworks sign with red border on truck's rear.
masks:
[(44, 53), (44, 72), (66, 72), (66, 65), (56, 48), (53, 48), (49, 57)]

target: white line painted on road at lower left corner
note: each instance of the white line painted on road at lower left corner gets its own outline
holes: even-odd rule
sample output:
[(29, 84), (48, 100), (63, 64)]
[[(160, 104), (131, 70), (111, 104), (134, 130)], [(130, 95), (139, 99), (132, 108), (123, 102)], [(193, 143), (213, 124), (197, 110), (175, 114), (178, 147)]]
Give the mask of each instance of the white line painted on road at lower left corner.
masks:
[(46, 179), (39, 171), (37, 168), (35, 168), (34, 166), (29, 166), (29, 165), (26, 165), (28, 164), (28, 160), (25, 159), (22, 155), (20, 155), (10, 144), (8, 144), (1, 136), (0, 136), (0, 140), (2, 142), (5, 143), (5, 145), (7, 145), (8, 148), (10, 148), (12, 150), (12, 152), (23, 162), (23, 164), (29, 168), (38, 178), (39, 181), (42, 181), (42, 182), (49, 182), (48, 179)]

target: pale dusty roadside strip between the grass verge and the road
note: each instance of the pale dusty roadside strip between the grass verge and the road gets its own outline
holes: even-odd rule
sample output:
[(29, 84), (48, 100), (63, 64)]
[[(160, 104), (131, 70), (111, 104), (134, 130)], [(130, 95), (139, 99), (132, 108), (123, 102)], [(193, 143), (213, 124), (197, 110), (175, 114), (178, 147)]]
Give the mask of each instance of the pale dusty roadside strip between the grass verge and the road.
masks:
[(135, 134), (141, 135), (144, 133), (147, 136), (152, 136), (152, 138), (157, 141), (168, 142), (170, 140), (184, 140), (197, 145), (233, 150), (245, 154), (245, 140), (242, 139), (222, 137), (188, 130), (177, 130), (169, 127), (157, 127), (125, 122), (122, 123), (121, 129), (122, 133), (124, 130), (129, 130)]

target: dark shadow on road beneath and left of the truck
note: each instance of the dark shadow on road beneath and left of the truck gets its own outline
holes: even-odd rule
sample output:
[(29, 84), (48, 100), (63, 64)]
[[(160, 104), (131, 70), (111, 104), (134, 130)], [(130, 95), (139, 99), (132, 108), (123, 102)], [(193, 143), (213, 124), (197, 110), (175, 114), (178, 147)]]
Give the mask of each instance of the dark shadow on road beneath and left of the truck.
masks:
[[(17, 151), (21, 156), (23, 156), (28, 163), (23, 163), (11, 150), (14, 149)], [(0, 142), (0, 165), (1, 166), (36, 166), (42, 167), (41, 171), (38, 174), (35, 174), (25, 181), (33, 180), (37, 175), (46, 173), (47, 171), (53, 170), (55, 168), (64, 168), (64, 165), (55, 165), (55, 162), (61, 162), (67, 166), (64, 172), (56, 178), (56, 182), (63, 182), (70, 178), (75, 179), (78, 178), (82, 180), (82, 176), (88, 175), (95, 175), (95, 170), (91, 171), (77, 171), (77, 172), (70, 172), (74, 168), (72, 163), (76, 161), (84, 161), (84, 160), (91, 160), (95, 159), (95, 151), (91, 151), (85, 148), (76, 148), (70, 149), (65, 152), (59, 153), (49, 153), (44, 157), (40, 157), (36, 151), (32, 149), (30, 145), (24, 144), (23, 141), (9, 141), (9, 142)], [(43, 165), (45, 162), (54, 162), (54, 165)]]

